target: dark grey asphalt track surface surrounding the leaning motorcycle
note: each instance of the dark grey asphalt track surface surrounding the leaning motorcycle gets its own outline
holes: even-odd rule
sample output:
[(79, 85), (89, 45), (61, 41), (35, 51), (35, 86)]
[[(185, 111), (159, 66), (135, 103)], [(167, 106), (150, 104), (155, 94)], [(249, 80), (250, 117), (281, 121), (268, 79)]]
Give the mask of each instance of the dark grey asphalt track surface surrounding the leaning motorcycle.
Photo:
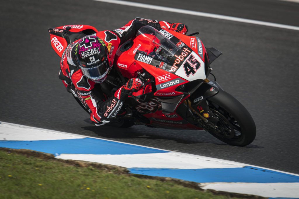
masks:
[[(299, 4), (276, 0), (135, 2), (299, 26)], [(98, 1), (1, 1), (0, 121), (198, 154), (299, 174), (299, 31)], [(217, 82), (251, 113), (257, 137), (229, 146), (208, 133), (145, 126), (95, 127), (58, 79), (48, 28), (113, 30), (135, 17), (181, 22), (223, 55)], [(212, 78), (210, 78), (212, 79)], [(78, 146), (80, 147), (80, 146)]]

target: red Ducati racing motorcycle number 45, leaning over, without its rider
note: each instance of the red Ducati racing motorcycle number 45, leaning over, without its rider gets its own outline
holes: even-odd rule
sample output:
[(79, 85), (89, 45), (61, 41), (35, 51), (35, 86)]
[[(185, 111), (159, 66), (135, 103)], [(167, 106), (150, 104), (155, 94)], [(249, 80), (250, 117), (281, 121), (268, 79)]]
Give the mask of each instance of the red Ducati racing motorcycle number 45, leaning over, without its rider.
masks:
[[(61, 57), (67, 45), (97, 30), (72, 25), (50, 28), (49, 32), (52, 47)], [(205, 48), (201, 39), (193, 36), (196, 34), (141, 27), (133, 39), (118, 48), (114, 70), (100, 84), (101, 89), (110, 97), (130, 78), (143, 81), (143, 87), (124, 103), (122, 127), (205, 130), (230, 145), (246, 146), (256, 136), (254, 120), (219, 86), (215, 76), (214, 81), (207, 79), (210, 64), (222, 53)]]

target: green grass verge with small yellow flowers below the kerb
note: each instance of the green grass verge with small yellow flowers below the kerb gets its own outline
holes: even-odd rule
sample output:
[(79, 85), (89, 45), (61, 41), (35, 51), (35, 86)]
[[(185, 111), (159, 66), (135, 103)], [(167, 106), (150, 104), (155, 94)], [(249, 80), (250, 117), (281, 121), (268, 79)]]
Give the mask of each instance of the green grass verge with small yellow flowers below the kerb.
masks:
[(160, 180), (0, 150), (0, 198), (229, 198)]

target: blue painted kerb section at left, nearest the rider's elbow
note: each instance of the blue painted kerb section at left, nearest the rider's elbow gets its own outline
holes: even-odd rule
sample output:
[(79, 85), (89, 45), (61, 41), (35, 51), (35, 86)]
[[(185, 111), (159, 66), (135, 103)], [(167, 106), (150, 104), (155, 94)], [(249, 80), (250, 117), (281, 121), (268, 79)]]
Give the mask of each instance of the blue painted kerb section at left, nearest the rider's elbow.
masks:
[(30, 149), (50, 154), (147, 154), (167, 153), (168, 151), (151, 149), (125, 143), (96, 138), (37, 141), (0, 141), (0, 147), (11, 149)]

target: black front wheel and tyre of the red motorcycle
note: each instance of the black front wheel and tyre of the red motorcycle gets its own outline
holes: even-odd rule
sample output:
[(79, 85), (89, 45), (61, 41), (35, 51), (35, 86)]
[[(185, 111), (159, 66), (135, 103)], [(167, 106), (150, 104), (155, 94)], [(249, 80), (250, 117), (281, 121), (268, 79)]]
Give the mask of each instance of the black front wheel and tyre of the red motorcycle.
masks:
[(255, 123), (246, 108), (223, 90), (207, 99), (210, 110), (218, 117), (216, 130), (209, 133), (234, 146), (246, 146), (256, 136)]

